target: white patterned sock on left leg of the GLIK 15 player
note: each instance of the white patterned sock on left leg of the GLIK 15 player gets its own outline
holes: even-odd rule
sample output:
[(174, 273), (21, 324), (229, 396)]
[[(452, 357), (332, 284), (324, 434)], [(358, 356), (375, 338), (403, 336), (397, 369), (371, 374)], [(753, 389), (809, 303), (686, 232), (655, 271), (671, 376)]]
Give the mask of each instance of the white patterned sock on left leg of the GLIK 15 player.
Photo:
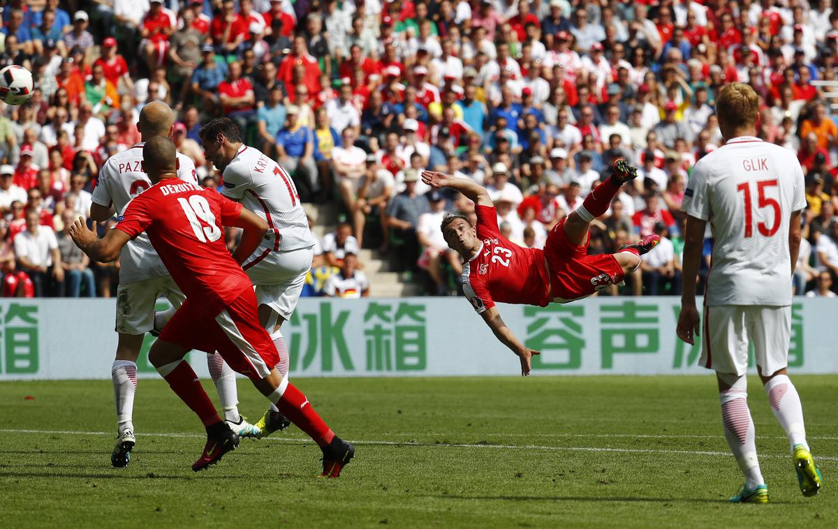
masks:
[(753, 427), (751, 410), (747, 408), (747, 379), (739, 377), (727, 391), (719, 393), (722, 403), (722, 424), (725, 439), (745, 475), (747, 488), (763, 485), (763, 473), (757, 459), (757, 433)]

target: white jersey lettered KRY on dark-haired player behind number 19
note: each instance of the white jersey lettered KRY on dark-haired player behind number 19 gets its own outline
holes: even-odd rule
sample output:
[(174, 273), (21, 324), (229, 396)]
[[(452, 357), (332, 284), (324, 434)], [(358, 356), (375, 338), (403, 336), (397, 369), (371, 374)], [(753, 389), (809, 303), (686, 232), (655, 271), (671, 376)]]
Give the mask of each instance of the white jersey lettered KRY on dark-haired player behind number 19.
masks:
[(258, 149), (241, 146), (224, 170), (225, 197), (241, 202), (261, 218), (276, 236), (266, 237), (242, 268), (257, 285), (277, 282), (279, 253), (311, 248), (314, 238), (291, 176)]

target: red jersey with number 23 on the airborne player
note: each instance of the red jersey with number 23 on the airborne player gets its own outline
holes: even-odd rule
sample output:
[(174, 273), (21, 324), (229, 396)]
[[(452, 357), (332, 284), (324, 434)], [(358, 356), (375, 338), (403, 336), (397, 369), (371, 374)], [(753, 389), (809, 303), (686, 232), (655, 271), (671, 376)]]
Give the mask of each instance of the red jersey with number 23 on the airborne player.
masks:
[(477, 236), (483, 245), (463, 265), (463, 291), (478, 314), (499, 303), (547, 306), (550, 280), (544, 251), (510, 243), (498, 228), (498, 212), (477, 206)]

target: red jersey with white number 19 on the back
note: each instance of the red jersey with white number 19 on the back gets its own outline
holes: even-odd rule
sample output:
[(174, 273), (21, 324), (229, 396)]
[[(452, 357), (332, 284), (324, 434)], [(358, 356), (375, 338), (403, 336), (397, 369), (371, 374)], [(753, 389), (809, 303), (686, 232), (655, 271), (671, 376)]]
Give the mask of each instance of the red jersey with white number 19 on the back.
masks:
[(225, 244), (223, 226), (241, 208), (215, 190), (166, 179), (133, 198), (116, 229), (132, 239), (146, 232), (180, 290), (215, 316), (252, 285)]

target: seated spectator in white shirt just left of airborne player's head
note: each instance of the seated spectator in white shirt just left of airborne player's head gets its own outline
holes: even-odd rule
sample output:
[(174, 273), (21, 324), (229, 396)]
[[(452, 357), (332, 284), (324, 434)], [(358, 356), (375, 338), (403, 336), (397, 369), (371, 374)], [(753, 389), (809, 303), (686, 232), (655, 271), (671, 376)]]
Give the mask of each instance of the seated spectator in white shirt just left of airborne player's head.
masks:
[(445, 217), (445, 198), (437, 189), (427, 193), (427, 200), (431, 211), (419, 215), (419, 222), (416, 224), (416, 239), (422, 244), (422, 255), (416, 261), (416, 265), (422, 270), (427, 270), (433, 280), (436, 295), (447, 295), (447, 278), (442, 274), (443, 259), (451, 265), (454, 274), (459, 277), (463, 273), (463, 265), (457, 252), (448, 248), (445, 237), (442, 236), (442, 218)]

